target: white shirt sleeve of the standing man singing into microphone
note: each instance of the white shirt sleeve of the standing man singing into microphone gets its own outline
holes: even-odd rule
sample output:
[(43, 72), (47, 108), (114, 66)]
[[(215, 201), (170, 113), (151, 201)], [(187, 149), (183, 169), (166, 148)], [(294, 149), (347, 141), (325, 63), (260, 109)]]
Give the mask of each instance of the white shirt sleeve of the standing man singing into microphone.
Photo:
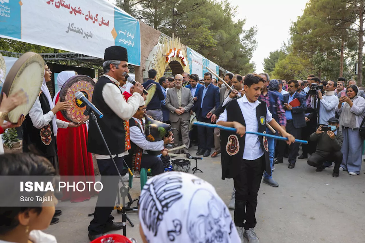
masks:
[(129, 120), (137, 112), (137, 109), (145, 104), (143, 97), (134, 92), (127, 101), (115, 84), (105, 84), (103, 88), (103, 98), (105, 103), (114, 113), (123, 120)]

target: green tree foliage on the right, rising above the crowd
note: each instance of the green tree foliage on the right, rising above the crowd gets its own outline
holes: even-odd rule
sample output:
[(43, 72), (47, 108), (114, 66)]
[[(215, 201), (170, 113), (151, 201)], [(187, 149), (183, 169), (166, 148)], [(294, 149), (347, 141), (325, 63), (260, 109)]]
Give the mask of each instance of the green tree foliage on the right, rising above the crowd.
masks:
[[(302, 79), (315, 74), (329, 80), (343, 72), (342, 76), (351, 78), (353, 63), (347, 63), (347, 60), (353, 60), (357, 55), (358, 37), (352, 23), (354, 9), (348, 2), (308, 1), (303, 15), (291, 26), (288, 55), (276, 62), (273, 76)], [(273, 63), (270, 57), (269, 61), (270, 68)]]

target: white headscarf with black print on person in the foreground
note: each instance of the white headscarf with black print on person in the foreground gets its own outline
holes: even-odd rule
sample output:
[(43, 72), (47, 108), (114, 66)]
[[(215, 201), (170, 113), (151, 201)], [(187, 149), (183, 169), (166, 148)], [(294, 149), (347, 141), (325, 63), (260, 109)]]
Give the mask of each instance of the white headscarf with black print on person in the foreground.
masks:
[(138, 215), (150, 243), (241, 242), (214, 187), (192, 174), (171, 171), (148, 180)]

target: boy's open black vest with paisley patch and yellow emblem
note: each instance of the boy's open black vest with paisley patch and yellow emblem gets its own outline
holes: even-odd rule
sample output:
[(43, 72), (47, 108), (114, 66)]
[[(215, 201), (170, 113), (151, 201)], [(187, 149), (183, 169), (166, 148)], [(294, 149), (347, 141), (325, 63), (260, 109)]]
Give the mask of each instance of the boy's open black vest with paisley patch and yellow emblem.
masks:
[[(256, 107), (256, 117), (258, 122), (258, 131), (266, 133), (266, 103), (261, 101)], [(242, 115), (241, 108), (238, 105), (237, 100), (232, 100), (230, 104), (226, 107), (227, 110), (227, 121), (237, 121), (241, 123), (243, 126), (246, 126), (245, 119)], [(264, 118), (264, 120), (260, 121), (260, 118)], [(220, 138), (221, 138), (221, 151), (222, 151), (222, 180), (225, 178), (233, 178), (237, 176), (241, 171), (240, 164), (242, 163), (243, 151), (245, 148), (245, 138), (244, 135), (242, 138), (238, 136), (235, 132), (220, 130)], [(272, 174), (269, 160), (269, 149), (268, 142), (266, 137), (258, 136), (261, 148), (264, 151), (266, 168), (265, 171), (269, 175)], [(247, 141), (251, 142), (251, 141)]]

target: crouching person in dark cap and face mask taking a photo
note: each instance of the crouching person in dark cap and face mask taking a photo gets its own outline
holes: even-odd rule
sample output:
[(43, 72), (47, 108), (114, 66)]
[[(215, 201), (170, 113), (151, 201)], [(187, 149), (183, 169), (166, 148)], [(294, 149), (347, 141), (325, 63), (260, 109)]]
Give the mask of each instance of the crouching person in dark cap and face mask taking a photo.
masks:
[(341, 147), (343, 136), (338, 130), (338, 119), (331, 117), (328, 119), (328, 127), (319, 126), (310, 136), (311, 141), (317, 142), (315, 153), (308, 158), (308, 165), (316, 167), (316, 171), (320, 172), (326, 168), (323, 163), (326, 161), (334, 161), (333, 177), (338, 177), (339, 167), (342, 162)]

